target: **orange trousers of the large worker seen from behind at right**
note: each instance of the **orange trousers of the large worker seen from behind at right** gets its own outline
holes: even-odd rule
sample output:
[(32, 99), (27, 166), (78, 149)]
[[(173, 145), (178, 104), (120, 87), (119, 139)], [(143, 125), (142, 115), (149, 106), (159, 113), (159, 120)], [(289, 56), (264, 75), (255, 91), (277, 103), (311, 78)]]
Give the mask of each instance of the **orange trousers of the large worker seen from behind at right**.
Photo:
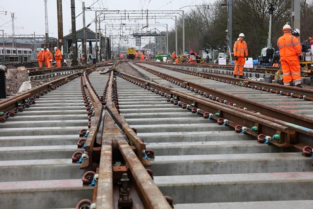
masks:
[[(295, 85), (301, 83), (300, 61), (297, 56), (286, 56), (280, 58), (283, 71), (283, 82), (295, 82)], [(287, 84), (288, 85), (288, 84)]]

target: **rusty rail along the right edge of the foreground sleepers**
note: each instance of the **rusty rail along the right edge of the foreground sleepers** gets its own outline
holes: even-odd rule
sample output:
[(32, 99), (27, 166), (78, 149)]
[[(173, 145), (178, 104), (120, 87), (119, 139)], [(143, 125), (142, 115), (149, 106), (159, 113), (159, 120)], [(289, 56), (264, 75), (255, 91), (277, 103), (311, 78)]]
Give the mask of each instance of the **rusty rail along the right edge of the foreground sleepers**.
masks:
[[(186, 94), (179, 91), (173, 91), (173, 89), (161, 86), (159, 84), (143, 80), (141, 78), (134, 77), (132, 75), (128, 75), (126, 73), (120, 72), (121, 76), (125, 76), (126, 79), (131, 80), (132, 82), (138, 82), (143, 84), (143, 88), (151, 88), (157, 89), (161, 93), (166, 93), (172, 100), (177, 100), (181, 102), (180, 105), (193, 104), (194, 106), (189, 106), (188, 109), (196, 108), (201, 109), (198, 111), (201, 114), (206, 114), (207, 111), (215, 115), (215, 113), (219, 113), (219, 116), (211, 116), (212, 118), (218, 120), (220, 117), (224, 119), (228, 119), (227, 125), (236, 127), (237, 125), (252, 127), (257, 126), (256, 131), (252, 131), (248, 129), (246, 131), (247, 134), (252, 136), (258, 136), (259, 134), (279, 134), (282, 135), (279, 140), (271, 141), (270, 143), (275, 144), (279, 147), (285, 146), (293, 146), (299, 149), (302, 149), (304, 145), (307, 145), (307, 141), (302, 141), (302, 139), (298, 138), (298, 132), (307, 135), (312, 139), (313, 130), (307, 129), (304, 127), (297, 126), (295, 124), (290, 124), (285, 121), (280, 121), (278, 119), (272, 118), (270, 116), (260, 116), (259, 114), (248, 112), (239, 108), (232, 107), (230, 105), (222, 104), (220, 102), (215, 102), (209, 100), (207, 98), (197, 98), (195, 96), (191, 96), (190, 94)], [(166, 95), (165, 94), (165, 95)], [(243, 118), (245, 124), (243, 123)], [(262, 133), (263, 132), (263, 133)], [(310, 140), (313, 143), (312, 140)]]

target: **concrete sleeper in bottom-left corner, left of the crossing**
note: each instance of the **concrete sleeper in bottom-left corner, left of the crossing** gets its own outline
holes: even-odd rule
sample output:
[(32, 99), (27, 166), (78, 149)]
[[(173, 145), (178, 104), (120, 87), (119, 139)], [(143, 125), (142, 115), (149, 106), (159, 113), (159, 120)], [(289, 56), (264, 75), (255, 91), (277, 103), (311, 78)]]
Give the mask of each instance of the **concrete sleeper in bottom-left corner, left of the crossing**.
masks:
[[(81, 179), (0, 182), (1, 207), (10, 209), (75, 208), (82, 199), (92, 200), (93, 186)], [(70, 198), (69, 198), (70, 197)]]

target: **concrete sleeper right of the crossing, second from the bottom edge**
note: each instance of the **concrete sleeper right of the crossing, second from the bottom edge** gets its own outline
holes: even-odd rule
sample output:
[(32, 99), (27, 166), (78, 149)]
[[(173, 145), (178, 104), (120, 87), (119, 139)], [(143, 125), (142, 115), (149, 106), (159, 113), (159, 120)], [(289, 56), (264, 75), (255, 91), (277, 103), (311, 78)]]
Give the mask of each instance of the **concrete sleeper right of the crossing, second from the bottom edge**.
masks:
[(176, 204), (313, 199), (305, 189), (313, 186), (313, 172), (154, 176), (154, 182)]

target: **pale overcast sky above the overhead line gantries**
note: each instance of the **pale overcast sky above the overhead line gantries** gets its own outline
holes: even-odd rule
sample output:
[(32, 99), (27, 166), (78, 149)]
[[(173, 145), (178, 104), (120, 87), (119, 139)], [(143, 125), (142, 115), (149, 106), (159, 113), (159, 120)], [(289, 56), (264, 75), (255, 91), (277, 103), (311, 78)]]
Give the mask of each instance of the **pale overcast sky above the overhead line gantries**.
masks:
[[(12, 17), (14, 12), (15, 34), (45, 34), (45, 0), (1, 0), (0, 4), (0, 30), (12, 34)], [(210, 3), (212, 0), (85, 0), (86, 7), (92, 5), (94, 8), (108, 8), (109, 10), (178, 10), (184, 6)], [(5, 2), (5, 3), (3, 3)], [(47, 0), (48, 31), (50, 37), (58, 36), (57, 28), (57, 0)], [(71, 29), (70, 0), (62, 0), (63, 8), (63, 34), (67, 35)], [(192, 7), (184, 7), (182, 10), (189, 10)], [(7, 11), (4, 15), (4, 11)], [(75, 14), (82, 12), (82, 0), (75, 0)], [(86, 25), (95, 18), (94, 11), (86, 12)], [(151, 21), (153, 22), (153, 21)], [(112, 22), (114, 24), (119, 21)], [(168, 23), (169, 29), (173, 27), (173, 20), (159, 20), (158, 23)], [(101, 27), (104, 28), (104, 24)], [(76, 30), (83, 27), (82, 15), (76, 18)], [(95, 24), (89, 28), (94, 31)], [(1, 32), (0, 32), (1, 33)]]

